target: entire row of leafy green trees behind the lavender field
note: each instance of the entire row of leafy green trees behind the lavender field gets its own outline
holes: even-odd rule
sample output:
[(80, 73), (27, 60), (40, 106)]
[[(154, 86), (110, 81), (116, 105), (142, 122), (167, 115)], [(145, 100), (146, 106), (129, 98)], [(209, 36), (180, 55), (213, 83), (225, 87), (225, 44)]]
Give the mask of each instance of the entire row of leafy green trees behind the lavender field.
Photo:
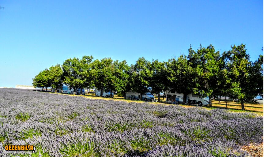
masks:
[(244, 102), (263, 94), (263, 55), (250, 61), (244, 44), (231, 46), (220, 54), (212, 45), (200, 46), (197, 51), (188, 49), (187, 56), (171, 58), (168, 62), (147, 61), (139, 58), (134, 65), (111, 58), (93, 60), (92, 56), (69, 58), (62, 66), (55, 65), (41, 71), (33, 78), (33, 86), (57, 88), (62, 84), (76, 88), (97, 88), (117, 91), (125, 96), (129, 90), (143, 93), (152, 87), (158, 94), (166, 90), (183, 93), (183, 103), (188, 94), (228, 96), (239, 99), (242, 110)]

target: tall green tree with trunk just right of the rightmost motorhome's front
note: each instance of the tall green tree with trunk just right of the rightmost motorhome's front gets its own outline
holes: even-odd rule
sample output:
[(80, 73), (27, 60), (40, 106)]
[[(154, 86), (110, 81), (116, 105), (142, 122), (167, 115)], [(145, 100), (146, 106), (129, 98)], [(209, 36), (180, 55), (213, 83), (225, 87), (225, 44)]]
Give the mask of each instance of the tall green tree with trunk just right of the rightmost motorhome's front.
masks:
[[(195, 68), (197, 82), (193, 88), (194, 94), (209, 97), (209, 106), (212, 107), (212, 97), (221, 92), (221, 56), (212, 45), (193, 51), (190, 47), (188, 59), (192, 68)], [(220, 95), (221, 96), (221, 95)]]

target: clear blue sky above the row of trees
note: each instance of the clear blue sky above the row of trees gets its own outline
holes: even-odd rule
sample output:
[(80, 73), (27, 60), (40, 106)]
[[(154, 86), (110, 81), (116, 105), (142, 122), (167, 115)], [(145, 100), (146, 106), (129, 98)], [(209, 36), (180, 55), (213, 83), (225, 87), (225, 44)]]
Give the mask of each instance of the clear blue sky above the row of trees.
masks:
[(262, 54), (263, 1), (0, 1), (0, 87), (31, 85), (45, 68), (92, 55), (167, 61), (189, 45)]

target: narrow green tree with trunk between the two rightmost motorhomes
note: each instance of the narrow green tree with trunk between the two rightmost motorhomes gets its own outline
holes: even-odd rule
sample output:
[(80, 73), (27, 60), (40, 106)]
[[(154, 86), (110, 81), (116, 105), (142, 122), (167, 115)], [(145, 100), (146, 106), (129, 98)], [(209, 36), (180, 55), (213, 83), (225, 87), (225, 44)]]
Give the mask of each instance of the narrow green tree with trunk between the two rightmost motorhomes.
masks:
[(165, 62), (152, 60), (148, 63), (149, 69), (148, 82), (152, 87), (152, 92), (158, 94), (158, 102), (160, 102), (160, 92), (165, 92), (168, 89), (167, 69)]

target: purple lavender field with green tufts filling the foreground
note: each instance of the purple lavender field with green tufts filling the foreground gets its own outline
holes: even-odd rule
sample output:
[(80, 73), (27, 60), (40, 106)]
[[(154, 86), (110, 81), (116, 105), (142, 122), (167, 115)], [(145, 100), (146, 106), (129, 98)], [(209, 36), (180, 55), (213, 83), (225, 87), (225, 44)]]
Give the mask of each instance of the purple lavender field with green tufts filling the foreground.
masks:
[[(263, 140), (263, 117), (224, 109), (86, 99), (0, 89), (0, 156), (248, 156)], [(34, 154), (6, 154), (33, 144)]]

